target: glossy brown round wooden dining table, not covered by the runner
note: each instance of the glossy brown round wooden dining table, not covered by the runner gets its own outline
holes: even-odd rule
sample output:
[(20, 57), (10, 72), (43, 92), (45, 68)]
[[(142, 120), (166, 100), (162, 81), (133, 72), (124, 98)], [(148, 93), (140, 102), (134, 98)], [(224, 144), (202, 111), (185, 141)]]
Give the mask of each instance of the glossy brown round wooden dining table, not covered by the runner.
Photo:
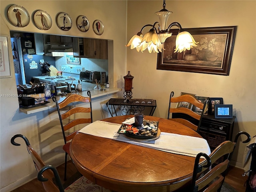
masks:
[[(102, 121), (122, 124), (128, 117)], [(144, 116), (159, 122), (161, 132), (200, 137), (194, 130), (172, 120)], [(118, 131), (118, 130), (117, 130)], [(189, 184), (194, 157), (164, 152), (78, 132), (70, 145), (77, 170), (94, 184), (115, 192), (171, 192)]]

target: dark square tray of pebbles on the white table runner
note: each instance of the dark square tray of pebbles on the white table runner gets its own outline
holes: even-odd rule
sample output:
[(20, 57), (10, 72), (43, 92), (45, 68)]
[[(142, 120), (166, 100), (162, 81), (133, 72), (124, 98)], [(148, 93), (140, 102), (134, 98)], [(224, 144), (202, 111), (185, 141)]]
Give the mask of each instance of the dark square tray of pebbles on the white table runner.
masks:
[(122, 124), (117, 133), (124, 134), (134, 140), (156, 140), (161, 133), (158, 124), (158, 121), (149, 120), (143, 120), (142, 127), (135, 127), (133, 124)]

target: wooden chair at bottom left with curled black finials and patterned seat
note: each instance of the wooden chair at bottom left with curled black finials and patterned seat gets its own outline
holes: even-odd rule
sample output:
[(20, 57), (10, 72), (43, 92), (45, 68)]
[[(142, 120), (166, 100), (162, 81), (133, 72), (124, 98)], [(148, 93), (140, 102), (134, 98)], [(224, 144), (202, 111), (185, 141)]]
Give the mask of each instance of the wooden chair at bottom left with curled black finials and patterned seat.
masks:
[(39, 181), (42, 181), (44, 190), (46, 192), (111, 192), (102, 186), (93, 184), (84, 176), (81, 176), (64, 189), (65, 184), (62, 185), (57, 169), (54, 166), (46, 165), (44, 163), (38, 153), (32, 148), (26, 136), (16, 134), (11, 138), (11, 143), (15, 146), (20, 146), (20, 144), (14, 141), (18, 137), (25, 141), (28, 153), (30, 154), (38, 172), (37, 178)]

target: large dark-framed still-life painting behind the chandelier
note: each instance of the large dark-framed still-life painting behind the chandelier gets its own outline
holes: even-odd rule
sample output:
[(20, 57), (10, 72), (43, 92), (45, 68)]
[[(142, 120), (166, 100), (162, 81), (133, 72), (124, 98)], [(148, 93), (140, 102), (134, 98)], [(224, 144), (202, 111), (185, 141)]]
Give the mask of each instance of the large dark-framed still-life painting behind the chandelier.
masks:
[(237, 26), (184, 29), (198, 42), (196, 47), (174, 53), (178, 29), (164, 42), (158, 53), (158, 70), (229, 75)]

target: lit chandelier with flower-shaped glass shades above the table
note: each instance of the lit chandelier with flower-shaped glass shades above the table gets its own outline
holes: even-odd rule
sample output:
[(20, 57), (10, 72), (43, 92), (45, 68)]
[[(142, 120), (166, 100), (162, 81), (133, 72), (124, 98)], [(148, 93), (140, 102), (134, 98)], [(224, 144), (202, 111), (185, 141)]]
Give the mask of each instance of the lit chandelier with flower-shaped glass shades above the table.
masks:
[[(152, 51), (157, 53), (162, 52), (162, 50), (164, 50), (165, 40), (172, 36), (170, 28), (173, 26), (179, 28), (179, 32), (176, 37), (176, 48), (174, 52), (190, 50), (190, 48), (193, 46), (197, 46), (196, 44), (198, 42), (195, 42), (192, 35), (189, 32), (184, 31), (178, 22), (172, 22), (168, 28), (166, 28), (166, 23), (171, 13), (171, 11), (165, 9), (164, 0), (163, 9), (155, 13), (158, 15), (160, 22), (155, 22), (153, 25), (146, 24), (143, 26), (140, 32), (134, 35), (126, 46), (131, 46), (131, 49), (136, 48), (138, 52), (143, 52), (146, 50), (146, 48), (148, 48), (148, 52), (150, 53)], [(143, 36), (142, 30), (144, 30), (144, 28), (147, 26), (151, 26), (152, 28)]]

